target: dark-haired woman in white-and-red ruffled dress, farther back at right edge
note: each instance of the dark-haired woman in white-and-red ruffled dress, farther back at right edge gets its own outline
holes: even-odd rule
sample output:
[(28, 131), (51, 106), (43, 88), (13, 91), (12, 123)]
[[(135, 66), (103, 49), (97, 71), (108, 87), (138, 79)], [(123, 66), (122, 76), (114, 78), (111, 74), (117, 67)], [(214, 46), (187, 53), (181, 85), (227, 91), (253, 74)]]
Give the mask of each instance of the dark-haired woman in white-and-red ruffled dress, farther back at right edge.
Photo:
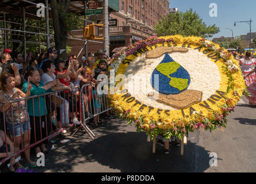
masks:
[[(251, 59), (251, 53), (249, 51), (246, 52), (244, 58), (239, 60), (240, 68), (243, 72), (243, 75), (247, 75), (251, 70), (255, 68), (255, 59)], [(250, 86), (255, 81), (256, 75), (252, 73), (245, 78), (246, 86)]]

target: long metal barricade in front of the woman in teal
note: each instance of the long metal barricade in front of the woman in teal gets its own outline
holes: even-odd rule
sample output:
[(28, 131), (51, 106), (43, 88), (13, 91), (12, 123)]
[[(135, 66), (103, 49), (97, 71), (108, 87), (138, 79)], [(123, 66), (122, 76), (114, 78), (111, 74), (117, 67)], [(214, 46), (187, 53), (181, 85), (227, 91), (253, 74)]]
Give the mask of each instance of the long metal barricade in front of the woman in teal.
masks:
[[(79, 87), (78, 91), (79, 91)], [(64, 94), (64, 96), (62, 95)], [(68, 100), (65, 100), (65, 95), (67, 95)], [(70, 97), (70, 93), (64, 93), (64, 91), (55, 91), (55, 92), (51, 92), (51, 93), (45, 93), (45, 94), (41, 94), (41, 95), (33, 95), (30, 97), (26, 97), (26, 98), (18, 98), (18, 99), (14, 99), (12, 101), (9, 101), (10, 103), (10, 107), (8, 109), (5, 110), (4, 106), (2, 106), (2, 122), (3, 122), (3, 133), (4, 133), (4, 140), (3, 140), (3, 144), (5, 145), (5, 151), (6, 151), (6, 157), (5, 158), (0, 158), (0, 166), (2, 163), (6, 162), (6, 160), (9, 160), (10, 158), (14, 157), (14, 156), (18, 156), (20, 155), (22, 152), (35, 147), (36, 145), (42, 143), (45, 140), (48, 140), (51, 137), (54, 137), (56, 135), (58, 135), (60, 132), (62, 132), (63, 126), (66, 127), (67, 123), (69, 124), (69, 120), (70, 120), (70, 114), (72, 114), (72, 122), (74, 125), (74, 117), (78, 118), (78, 113), (80, 115), (80, 121), (82, 119), (82, 114), (81, 114), (81, 100), (78, 100), (79, 97), (75, 97), (75, 98), (69, 98)], [(41, 100), (40, 100), (41, 99)], [(62, 102), (60, 101), (60, 99), (62, 99)], [(72, 101), (70, 101), (70, 99)], [(79, 98), (80, 99), (80, 98)], [(60, 101), (59, 104), (57, 101)], [(74, 104), (77, 105), (77, 102), (79, 103), (79, 108), (75, 108), (74, 110), (74, 105), (73, 102), (76, 101)], [(22, 109), (20, 108), (20, 105), (22, 103), (25, 102), (25, 112), (21, 112)], [(29, 106), (28, 106), (28, 102), (29, 102)], [(36, 103), (35, 103), (36, 102)], [(40, 103), (43, 102), (43, 105)], [(68, 105), (70, 105), (70, 103), (72, 102), (72, 110), (68, 109), (68, 114), (66, 113), (66, 108), (67, 105), (66, 103), (68, 103)], [(5, 104), (1, 104), (0, 105), (5, 105)], [(19, 117), (16, 116), (14, 117), (13, 114), (13, 106), (16, 105), (18, 107), (18, 114)], [(52, 105), (54, 105), (54, 107), (52, 107)], [(70, 107), (70, 106), (69, 106)], [(41, 109), (43, 108), (43, 109)], [(59, 120), (56, 117), (56, 112), (57, 109), (59, 108)], [(64, 108), (64, 111), (62, 110), (62, 108)], [(6, 112), (7, 110), (10, 109), (10, 116), (12, 117), (8, 117), (6, 118)], [(33, 110), (33, 114), (29, 115), (29, 109)], [(24, 109), (23, 109), (24, 110)], [(38, 112), (37, 112), (38, 110)], [(71, 111), (71, 113), (70, 113)], [(47, 112), (47, 113), (46, 113)], [(64, 113), (63, 113), (64, 112)], [(17, 112), (16, 112), (17, 113)], [(26, 123), (26, 129), (29, 130), (30, 127), (30, 133), (29, 131), (26, 131), (24, 133), (22, 133), (22, 124), (25, 121), (21, 121), (21, 114), (24, 113), (25, 114), (25, 121)], [(44, 113), (44, 114), (43, 114)], [(55, 113), (55, 124), (54, 122), (52, 122), (52, 118), (53, 117), (53, 113)], [(8, 114), (9, 115), (9, 114)], [(39, 116), (35, 116), (35, 115), (39, 115)], [(43, 115), (43, 116), (41, 116)], [(74, 116), (73, 116), (74, 115)], [(64, 118), (62, 118), (62, 116), (64, 116)], [(68, 121), (67, 121), (67, 117), (68, 116)], [(12, 120), (11, 122), (6, 122), (6, 119), (8, 120)], [(15, 119), (15, 120), (14, 120)], [(43, 119), (43, 120), (42, 120)], [(62, 122), (64, 120), (64, 122)], [(14, 124), (14, 121), (19, 121), (20, 123), (16, 123)], [(58, 121), (60, 122), (60, 124), (58, 124)], [(1, 123), (2, 123), (1, 122)], [(10, 124), (12, 124), (12, 129), (10, 130)], [(17, 126), (17, 124), (19, 124)], [(9, 125), (7, 128), (7, 125)], [(14, 130), (14, 125), (16, 125), (16, 128), (20, 128), (20, 145), (17, 145), (16, 143), (16, 137), (15, 135), (17, 135), (17, 133), (15, 133)], [(30, 126), (29, 126), (30, 125)], [(55, 127), (55, 128), (54, 128)], [(10, 131), (12, 131), (13, 136), (10, 135)], [(8, 133), (9, 132), (9, 133)], [(32, 135), (33, 133), (33, 135)], [(9, 134), (9, 136), (8, 136)], [(26, 134), (26, 135), (25, 135)], [(24, 146), (24, 135), (28, 137), (28, 145)], [(34, 136), (33, 138), (35, 139), (35, 142), (31, 142), (31, 136)], [(14, 144), (14, 154), (9, 154), (8, 152), (8, 147), (10, 147), (9, 144), (7, 144), (7, 140), (12, 140), (13, 144)], [(33, 140), (34, 141), (34, 140)], [(3, 145), (3, 146), (4, 146)], [(19, 149), (19, 150), (17, 150)]]

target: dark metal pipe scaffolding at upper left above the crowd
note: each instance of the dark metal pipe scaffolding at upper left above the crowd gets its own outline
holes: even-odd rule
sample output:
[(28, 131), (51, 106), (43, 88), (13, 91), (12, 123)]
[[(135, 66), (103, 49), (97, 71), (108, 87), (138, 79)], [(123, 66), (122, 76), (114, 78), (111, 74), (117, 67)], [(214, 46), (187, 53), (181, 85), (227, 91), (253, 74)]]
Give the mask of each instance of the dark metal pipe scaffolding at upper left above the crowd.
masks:
[[(86, 2), (87, 1), (72, 1), (70, 2), (70, 9), (68, 11), (75, 12), (79, 10), (79, 15), (85, 15), (84, 11), (86, 10)], [(31, 7), (37, 10), (35, 7), (38, 3), (44, 3), (45, 8), (45, 22), (42, 22), (41, 17), (37, 17), (36, 14), (26, 12), (26, 8), (30, 9)], [(54, 47), (54, 34), (51, 34), (50, 32), (54, 32), (54, 30), (49, 29), (49, 10), (51, 10), (51, 7), (48, 7), (48, 0), (39, 1), (39, 0), (19, 0), (19, 1), (11, 1), (11, 0), (3, 0), (0, 2), (0, 51), (2, 52), (5, 48), (10, 48), (10, 43), (20, 43), (19, 47), (23, 47), (24, 50), (24, 59), (26, 59), (26, 48), (28, 47), (28, 44), (32, 44), (29, 47), (38, 47), (39, 53), (41, 53), (41, 46), (44, 45), (47, 49), (49, 47)], [(6, 5), (6, 7), (4, 7)], [(82, 6), (79, 7), (78, 5)], [(22, 13), (17, 10), (13, 10), (12, 7), (22, 7)], [(13, 14), (14, 16), (22, 17), (22, 23), (19, 22), (12, 22), (7, 21), (6, 16), (10, 16)], [(33, 20), (37, 20), (38, 26), (35, 25), (29, 25), (26, 24), (26, 18), (30, 18)], [(81, 20), (85, 21), (85, 25), (87, 22), (91, 22), (85, 18), (80, 18)], [(46, 24), (46, 28), (43, 28), (41, 24)], [(18, 25), (22, 30), (18, 29), (12, 29), (13, 25)], [(30, 28), (33, 28), (34, 31), (29, 31)], [(35, 30), (36, 29), (36, 30)], [(26, 36), (38, 36), (38, 41), (28, 41), (26, 40)], [(22, 39), (15, 40), (10, 39), (11, 36), (20, 36)], [(43, 36), (43, 39), (41, 38)], [(85, 40), (85, 39), (79, 39), (75, 37), (68, 36), (68, 39), (70, 40), (80, 40), (85, 41), (84, 47), (86, 48), (87, 41), (92, 41), (95, 43), (101, 43), (100, 41), (94, 41), (94, 40)], [(19, 48), (18, 47), (18, 48)], [(18, 49), (16, 48), (16, 50)]]

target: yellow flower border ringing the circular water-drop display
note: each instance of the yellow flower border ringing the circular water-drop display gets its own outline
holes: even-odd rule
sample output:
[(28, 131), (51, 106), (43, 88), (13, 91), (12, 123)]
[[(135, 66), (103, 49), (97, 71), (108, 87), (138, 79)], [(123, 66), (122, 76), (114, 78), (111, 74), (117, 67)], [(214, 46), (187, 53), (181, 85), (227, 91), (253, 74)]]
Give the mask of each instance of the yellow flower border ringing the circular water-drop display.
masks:
[[(165, 42), (165, 47), (170, 46), (170, 44), (171, 46), (177, 44), (175, 47), (190, 47), (192, 49), (200, 47), (200, 40), (202, 40), (201, 37), (183, 37), (180, 35), (159, 37), (159, 39), (172, 40), (171, 43)], [(212, 41), (209, 40), (207, 41), (215, 45), (217, 49), (220, 48), (218, 44), (214, 44), (212, 43)], [(163, 46), (163, 43), (156, 44), (156, 46), (161, 47)], [(154, 49), (153, 45), (146, 46), (146, 50), (148, 51), (150, 51), (152, 48)], [(207, 48), (202, 47), (200, 52), (203, 52), (204, 50), (207, 50)], [(208, 52), (207, 54), (209, 53), (211, 54), (212, 52)], [(139, 56), (140, 53), (136, 52), (136, 55)], [(125, 57), (125, 59), (127, 60), (134, 60), (135, 58), (135, 55), (129, 55)], [(211, 60), (213, 62), (216, 61), (216, 59)], [(189, 106), (189, 108), (183, 110), (170, 110), (168, 113), (165, 113), (164, 109), (159, 111), (159, 109), (155, 108), (152, 109), (150, 113), (148, 113), (148, 108), (144, 108), (142, 109), (142, 112), (140, 112), (139, 108), (141, 107), (141, 105), (133, 106), (134, 103), (127, 103), (125, 102), (126, 100), (123, 101), (124, 97), (122, 96), (124, 94), (120, 93), (109, 95), (110, 103), (113, 108), (115, 108), (120, 114), (120, 117), (125, 118), (130, 123), (132, 121), (135, 121), (137, 129), (139, 131), (143, 130), (147, 133), (150, 133), (151, 137), (159, 133), (163, 133), (167, 139), (170, 136), (174, 135), (181, 137), (182, 135), (184, 135), (185, 132), (195, 130), (195, 125), (196, 129), (201, 126), (205, 129), (210, 130), (216, 129), (217, 126), (225, 127), (225, 125), (221, 122), (222, 120), (224, 120), (223, 114), (224, 116), (227, 115), (228, 109), (230, 110), (230, 108), (234, 108), (240, 97), (242, 97), (243, 91), (246, 88), (238, 61), (234, 59), (232, 55), (230, 56), (229, 60), (232, 60), (232, 62), (238, 67), (238, 71), (229, 72), (229, 75), (227, 74), (228, 72), (225, 70), (226, 64), (224, 63), (224, 59), (219, 59), (217, 60), (217, 62), (215, 62), (215, 64), (219, 68), (221, 75), (220, 88), (218, 89), (218, 91), (223, 91), (226, 93), (220, 94), (216, 92), (215, 94), (213, 94), (218, 96), (221, 95), (221, 97), (224, 98), (215, 101), (216, 104), (207, 102), (211, 109), (202, 107), (199, 104), (206, 104), (204, 104), (204, 102), (200, 102), (191, 105)], [(119, 68), (117, 69), (116, 75), (124, 74), (128, 65), (128, 62), (121, 63), (119, 65)], [(234, 85), (227, 92), (227, 86), (229, 85), (231, 80)], [(192, 107), (193, 109), (190, 107)], [(198, 113), (192, 114), (192, 110), (195, 110)], [(170, 114), (170, 116), (167, 114)]]

